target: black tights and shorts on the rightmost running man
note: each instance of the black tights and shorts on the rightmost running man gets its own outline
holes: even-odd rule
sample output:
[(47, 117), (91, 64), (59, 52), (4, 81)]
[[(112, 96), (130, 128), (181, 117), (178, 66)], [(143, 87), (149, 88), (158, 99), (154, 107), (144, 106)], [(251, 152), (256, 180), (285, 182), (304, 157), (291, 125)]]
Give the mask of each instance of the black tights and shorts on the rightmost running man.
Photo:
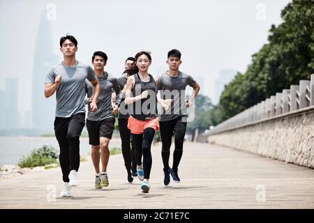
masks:
[(182, 122), (181, 117), (170, 121), (160, 121), (160, 138), (163, 144), (161, 156), (163, 157), (163, 167), (169, 169), (170, 146), (174, 135), (174, 152), (172, 169), (177, 169), (183, 153), (184, 135), (186, 134), (186, 122)]

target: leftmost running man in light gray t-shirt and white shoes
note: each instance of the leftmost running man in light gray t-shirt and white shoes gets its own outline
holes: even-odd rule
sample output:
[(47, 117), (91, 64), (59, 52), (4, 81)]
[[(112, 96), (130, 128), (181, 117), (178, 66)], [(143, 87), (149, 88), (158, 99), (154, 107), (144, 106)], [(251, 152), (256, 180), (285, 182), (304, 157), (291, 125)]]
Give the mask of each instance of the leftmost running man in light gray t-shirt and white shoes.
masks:
[(56, 92), (54, 133), (60, 146), (59, 161), (64, 182), (60, 196), (70, 197), (70, 188), (77, 185), (80, 167), (80, 134), (85, 125), (85, 79), (94, 86), (95, 97), (91, 102), (94, 112), (100, 85), (93, 69), (75, 60), (77, 40), (74, 36), (61, 37), (60, 50), (63, 62), (50, 69), (45, 79), (45, 97)]

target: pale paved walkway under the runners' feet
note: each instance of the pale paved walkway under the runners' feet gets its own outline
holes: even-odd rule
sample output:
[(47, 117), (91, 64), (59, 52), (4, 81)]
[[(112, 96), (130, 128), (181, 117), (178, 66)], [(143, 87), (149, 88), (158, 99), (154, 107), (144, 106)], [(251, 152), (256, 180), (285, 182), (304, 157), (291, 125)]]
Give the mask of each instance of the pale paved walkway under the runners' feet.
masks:
[(152, 148), (149, 194), (141, 192), (137, 178), (127, 183), (119, 154), (110, 157), (110, 185), (103, 190), (94, 189), (89, 157), (81, 163), (80, 186), (73, 187), (73, 197), (59, 197), (61, 169), (47, 169), (0, 180), (0, 208), (314, 208), (313, 169), (231, 148), (186, 143), (181, 183), (164, 187), (160, 148)]

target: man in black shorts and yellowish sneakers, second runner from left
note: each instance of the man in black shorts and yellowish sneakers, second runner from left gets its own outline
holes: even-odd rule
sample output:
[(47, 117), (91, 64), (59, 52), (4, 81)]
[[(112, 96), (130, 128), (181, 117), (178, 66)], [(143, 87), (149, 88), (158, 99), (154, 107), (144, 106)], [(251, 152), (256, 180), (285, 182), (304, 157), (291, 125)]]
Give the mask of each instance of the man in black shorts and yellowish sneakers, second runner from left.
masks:
[[(91, 58), (94, 66), (96, 77), (100, 83), (100, 95), (98, 97), (98, 111), (93, 112), (89, 105), (87, 116), (87, 131), (89, 132), (89, 144), (91, 144), (91, 159), (93, 160), (96, 171), (95, 187), (107, 187), (109, 180), (107, 176), (107, 164), (109, 161), (110, 151), (109, 142), (114, 131), (115, 118), (114, 113), (118, 112), (120, 102), (120, 87), (117, 79), (105, 72), (107, 64), (107, 55), (104, 52), (97, 51)], [(112, 108), (112, 90), (117, 95), (117, 102)], [(94, 100), (93, 87), (87, 82), (87, 103)], [(101, 152), (99, 152), (99, 150)], [(101, 157), (102, 169), (100, 173), (99, 162)]]

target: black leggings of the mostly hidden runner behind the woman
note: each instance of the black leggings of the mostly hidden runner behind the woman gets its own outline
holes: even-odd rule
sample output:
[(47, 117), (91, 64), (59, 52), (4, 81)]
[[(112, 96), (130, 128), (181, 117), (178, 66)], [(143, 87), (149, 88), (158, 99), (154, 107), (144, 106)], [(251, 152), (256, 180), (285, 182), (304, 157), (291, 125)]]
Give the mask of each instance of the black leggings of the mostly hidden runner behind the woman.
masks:
[[(134, 144), (130, 137), (130, 130), (128, 129), (128, 118), (119, 118), (119, 132), (121, 138), (122, 155), (124, 157), (124, 166), (129, 172), (132, 169), (136, 173), (136, 162), (134, 157)], [(132, 146), (130, 146), (130, 144)]]

